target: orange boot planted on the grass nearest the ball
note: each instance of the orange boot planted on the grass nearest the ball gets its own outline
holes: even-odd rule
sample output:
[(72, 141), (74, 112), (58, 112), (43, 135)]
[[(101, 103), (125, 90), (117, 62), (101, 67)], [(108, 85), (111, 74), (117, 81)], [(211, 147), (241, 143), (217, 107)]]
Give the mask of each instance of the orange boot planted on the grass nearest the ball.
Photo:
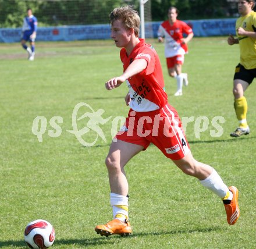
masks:
[(108, 237), (112, 234), (118, 234), (120, 236), (129, 236), (131, 234), (131, 226), (128, 220), (122, 222), (119, 219), (113, 219), (105, 225), (98, 225), (95, 227), (95, 232), (101, 234), (101, 236)]

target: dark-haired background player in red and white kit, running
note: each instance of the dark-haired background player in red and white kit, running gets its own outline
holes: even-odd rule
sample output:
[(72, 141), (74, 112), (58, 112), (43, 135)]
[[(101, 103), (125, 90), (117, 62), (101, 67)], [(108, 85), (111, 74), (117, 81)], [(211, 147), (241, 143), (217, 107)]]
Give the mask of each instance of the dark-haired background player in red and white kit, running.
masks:
[[(177, 91), (175, 96), (182, 95), (182, 85), (187, 86), (187, 73), (182, 73), (182, 65), (184, 63), (184, 54), (187, 54), (187, 42), (189, 42), (194, 34), (193, 30), (186, 23), (177, 20), (179, 11), (175, 7), (168, 10), (168, 20), (163, 22), (158, 29), (158, 41), (162, 42), (165, 37), (165, 57), (170, 77), (177, 80)], [(187, 34), (183, 38), (183, 33)]]

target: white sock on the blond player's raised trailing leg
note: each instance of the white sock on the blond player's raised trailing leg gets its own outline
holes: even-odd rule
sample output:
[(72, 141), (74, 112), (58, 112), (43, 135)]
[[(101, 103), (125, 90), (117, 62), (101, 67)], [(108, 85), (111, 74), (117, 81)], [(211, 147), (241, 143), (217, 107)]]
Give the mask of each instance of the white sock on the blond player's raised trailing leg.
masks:
[(221, 176), (219, 176), (215, 169), (212, 170), (211, 175), (209, 175), (206, 179), (200, 180), (200, 183), (202, 186), (208, 188), (222, 199), (228, 194), (229, 197), (226, 200), (232, 200), (233, 198), (232, 192), (229, 190), (226, 184), (223, 183)]

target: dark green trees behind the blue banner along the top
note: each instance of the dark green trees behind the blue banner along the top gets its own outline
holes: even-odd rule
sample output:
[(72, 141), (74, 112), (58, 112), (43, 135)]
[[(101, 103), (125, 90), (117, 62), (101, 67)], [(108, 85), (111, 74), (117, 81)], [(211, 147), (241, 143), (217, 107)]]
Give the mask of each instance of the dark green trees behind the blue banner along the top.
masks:
[[(127, 4), (140, 11), (139, 0), (0, 0), (0, 27), (21, 27), (27, 8), (39, 26), (104, 24), (113, 8)], [(170, 6), (180, 10), (181, 20), (237, 16), (237, 0), (149, 0), (146, 21), (165, 20)]]

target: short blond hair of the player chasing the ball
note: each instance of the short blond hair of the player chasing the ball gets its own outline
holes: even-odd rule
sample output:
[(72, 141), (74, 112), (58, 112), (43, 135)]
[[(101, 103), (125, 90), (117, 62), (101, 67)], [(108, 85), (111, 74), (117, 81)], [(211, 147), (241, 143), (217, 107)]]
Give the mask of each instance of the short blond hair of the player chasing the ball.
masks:
[(140, 33), (140, 16), (133, 6), (127, 5), (113, 9), (109, 15), (109, 23), (113, 24), (115, 20), (120, 20), (126, 29), (134, 29), (134, 34), (138, 37)]

